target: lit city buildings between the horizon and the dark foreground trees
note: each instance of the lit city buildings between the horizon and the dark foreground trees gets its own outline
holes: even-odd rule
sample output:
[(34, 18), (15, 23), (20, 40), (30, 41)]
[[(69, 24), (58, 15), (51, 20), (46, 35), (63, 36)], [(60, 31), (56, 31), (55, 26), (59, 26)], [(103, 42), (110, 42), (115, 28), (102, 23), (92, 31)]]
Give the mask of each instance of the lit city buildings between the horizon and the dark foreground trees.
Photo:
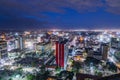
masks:
[[(120, 70), (120, 33), (112, 31), (24, 31), (0, 33), (0, 60), (38, 55), (39, 65), (48, 69), (74, 71), (73, 61), (86, 64), (88, 58), (113, 63)], [(37, 57), (36, 57), (37, 58)], [(39, 62), (39, 61), (38, 61)], [(83, 65), (83, 63), (85, 63)], [(98, 65), (99, 66), (99, 65)], [(101, 66), (101, 63), (100, 63)], [(85, 66), (84, 66), (85, 67)], [(94, 68), (90, 68), (90, 70)], [(95, 71), (95, 70), (94, 70)], [(91, 71), (94, 73), (94, 71)], [(85, 71), (79, 73), (84, 73)]]

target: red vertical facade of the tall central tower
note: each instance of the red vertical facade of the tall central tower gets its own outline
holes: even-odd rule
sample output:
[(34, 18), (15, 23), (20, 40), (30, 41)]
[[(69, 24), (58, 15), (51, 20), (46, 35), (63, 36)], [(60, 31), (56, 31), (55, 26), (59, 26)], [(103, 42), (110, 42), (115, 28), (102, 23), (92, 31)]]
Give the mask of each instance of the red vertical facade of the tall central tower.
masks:
[(64, 67), (64, 43), (56, 42), (56, 64), (59, 67)]

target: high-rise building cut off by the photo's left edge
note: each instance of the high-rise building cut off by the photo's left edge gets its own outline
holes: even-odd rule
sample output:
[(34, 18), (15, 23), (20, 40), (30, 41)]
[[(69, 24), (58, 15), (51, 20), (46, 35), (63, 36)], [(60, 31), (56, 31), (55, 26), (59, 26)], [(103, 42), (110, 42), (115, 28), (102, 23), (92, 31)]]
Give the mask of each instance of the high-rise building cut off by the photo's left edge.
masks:
[(7, 57), (7, 42), (0, 41), (0, 59)]

